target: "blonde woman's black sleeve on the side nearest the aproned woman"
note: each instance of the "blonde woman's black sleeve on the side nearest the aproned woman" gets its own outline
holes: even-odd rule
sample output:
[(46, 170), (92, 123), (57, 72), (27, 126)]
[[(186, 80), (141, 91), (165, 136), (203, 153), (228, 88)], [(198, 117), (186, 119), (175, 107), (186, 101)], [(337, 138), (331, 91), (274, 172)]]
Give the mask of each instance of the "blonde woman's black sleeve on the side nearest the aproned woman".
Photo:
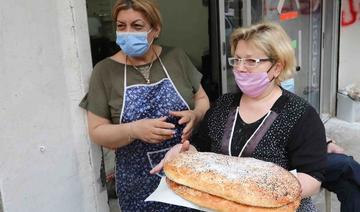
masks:
[(209, 136), (209, 116), (211, 114), (212, 109), (209, 109), (200, 122), (199, 126), (194, 129), (193, 134), (190, 138), (190, 143), (195, 146), (195, 148), (199, 152), (210, 152), (211, 151), (211, 140)]

